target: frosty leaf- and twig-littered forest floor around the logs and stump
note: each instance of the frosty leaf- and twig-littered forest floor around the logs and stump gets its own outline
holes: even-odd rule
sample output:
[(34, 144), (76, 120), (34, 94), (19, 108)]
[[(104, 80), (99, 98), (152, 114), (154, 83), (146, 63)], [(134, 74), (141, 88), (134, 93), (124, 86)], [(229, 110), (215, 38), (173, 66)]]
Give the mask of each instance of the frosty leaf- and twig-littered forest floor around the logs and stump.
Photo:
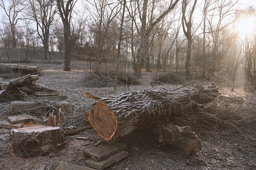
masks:
[[(1, 58), (3, 62), (6, 62), (3, 56)], [(51, 63), (34, 60), (28, 65), (38, 66), (42, 70), (42, 75), (37, 80), (38, 84), (57, 89), (61, 95), (68, 97), (67, 101), (71, 103), (73, 109), (73, 115), (70, 115), (70, 117), (74, 117), (74, 121), (67, 122), (65, 126), (87, 125), (84, 120), (84, 113), (91, 109), (94, 103), (90, 98), (83, 96), (87, 91), (97, 96), (109, 97), (146, 88), (174, 90), (188, 83), (182, 80), (182, 83), (176, 83), (176, 85), (150, 85), (149, 81), (154, 80), (156, 75), (156, 70), (153, 69), (153, 72), (142, 70), (142, 79), (139, 79), (138, 84), (120, 85), (116, 91), (113, 90), (111, 85), (93, 87), (93, 84), (89, 86), (86, 80), (90, 75), (87, 62), (73, 59), (71, 60), (72, 71), (64, 72), (63, 56), (59, 58), (55, 57)], [(126, 68), (126, 72), (132, 75), (132, 67)], [(160, 70), (158, 74), (162, 73), (162, 70)], [(8, 84), (11, 80), (10, 75), (0, 74), (0, 78), (2, 76), (5, 78), (1, 80), (1, 83)], [(182, 79), (182, 77), (179, 79)], [(209, 84), (209, 82), (204, 82), (204, 84)], [(229, 129), (220, 129), (216, 125), (204, 125), (199, 120), (191, 123), (190, 126), (200, 141), (195, 153), (174, 152), (165, 145), (159, 146), (154, 141), (148, 140), (143, 131), (135, 130), (132, 134), (119, 140), (126, 143), (127, 147), (124, 150), (128, 152), (129, 156), (106, 168), (106, 170), (256, 169), (255, 94), (243, 90), (231, 92), (226, 87), (222, 87), (220, 92), (229, 98), (217, 97), (214, 102), (206, 107), (211, 107), (214, 110), (216, 118), (218, 117), (228, 123)], [(3, 108), (8, 111), (9, 103), (2, 103), (0, 107), (1, 111), (3, 111)], [(225, 109), (226, 112), (224, 112)], [(224, 113), (225, 115), (223, 115)], [(45, 124), (43, 121), (40, 123)], [(75, 137), (84, 136), (100, 140), (97, 133), (90, 129), (74, 136), (65, 137), (66, 146), (62, 150), (50, 153), (47, 156), (21, 158), (13, 153), (10, 133), (11, 130), (0, 128), (0, 169), (49, 170), (55, 169), (60, 162), (87, 166), (85, 163), (87, 158), (83, 151), (94, 145), (94, 142), (79, 140)]]

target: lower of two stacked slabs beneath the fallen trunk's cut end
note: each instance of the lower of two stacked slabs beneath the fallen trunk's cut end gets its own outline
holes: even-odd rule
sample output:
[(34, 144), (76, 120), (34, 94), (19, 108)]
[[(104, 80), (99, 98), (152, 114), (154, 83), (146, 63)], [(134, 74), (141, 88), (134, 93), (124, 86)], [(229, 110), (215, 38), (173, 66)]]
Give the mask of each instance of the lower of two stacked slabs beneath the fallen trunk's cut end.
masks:
[(107, 166), (109, 166), (113, 163), (116, 163), (119, 160), (121, 160), (127, 156), (128, 156), (128, 153), (126, 151), (120, 151), (120, 152), (100, 161), (100, 162), (97, 162), (97, 161), (93, 160), (92, 158), (90, 158), (90, 159), (86, 160), (86, 165), (89, 165), (92, 168), (102, 170), (102, 169), (106, 168)]

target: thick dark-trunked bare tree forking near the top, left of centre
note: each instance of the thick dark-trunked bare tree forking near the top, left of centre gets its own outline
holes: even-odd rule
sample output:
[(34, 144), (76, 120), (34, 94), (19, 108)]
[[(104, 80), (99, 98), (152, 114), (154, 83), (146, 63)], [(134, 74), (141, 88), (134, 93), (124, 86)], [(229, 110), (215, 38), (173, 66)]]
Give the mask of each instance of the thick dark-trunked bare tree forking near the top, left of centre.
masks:
[(62, 18), (64, 28), (65, 61), (64, 71), (71, 71), (70, 68), (70, 21), (71, 14), (77, 0), (57, 0), (59, 15)]

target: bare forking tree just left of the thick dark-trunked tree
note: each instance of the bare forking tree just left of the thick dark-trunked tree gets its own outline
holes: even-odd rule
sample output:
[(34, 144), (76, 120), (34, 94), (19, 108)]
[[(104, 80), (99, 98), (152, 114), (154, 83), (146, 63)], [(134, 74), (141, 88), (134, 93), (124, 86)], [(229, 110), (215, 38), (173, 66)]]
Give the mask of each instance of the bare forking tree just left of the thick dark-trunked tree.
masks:
[(29, 0), (33, 21), (36, 22), (37, 34), (44, 46), (44, 59), (50, 62), (49, 34), (57, 7), (54, 0)]

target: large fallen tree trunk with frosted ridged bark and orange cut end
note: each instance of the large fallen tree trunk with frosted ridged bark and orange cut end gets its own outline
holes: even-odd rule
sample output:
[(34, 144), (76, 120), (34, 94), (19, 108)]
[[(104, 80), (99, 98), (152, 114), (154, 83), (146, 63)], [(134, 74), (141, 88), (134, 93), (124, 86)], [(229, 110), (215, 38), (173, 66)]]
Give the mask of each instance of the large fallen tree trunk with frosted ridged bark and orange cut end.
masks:
[[(100, 99), (89, 92), (86, 94), (85, 97)], [(150, 128), (158, 121), (186, 114), (199, 104), (212, 102), (217, 95), (218, 90), (213, 84), (180, 92), (166, 89), (130, 91), (113, 98), (101, 98), (85, 114), (85, 119), (103, 140), (108, 141), (134, 129)]]

